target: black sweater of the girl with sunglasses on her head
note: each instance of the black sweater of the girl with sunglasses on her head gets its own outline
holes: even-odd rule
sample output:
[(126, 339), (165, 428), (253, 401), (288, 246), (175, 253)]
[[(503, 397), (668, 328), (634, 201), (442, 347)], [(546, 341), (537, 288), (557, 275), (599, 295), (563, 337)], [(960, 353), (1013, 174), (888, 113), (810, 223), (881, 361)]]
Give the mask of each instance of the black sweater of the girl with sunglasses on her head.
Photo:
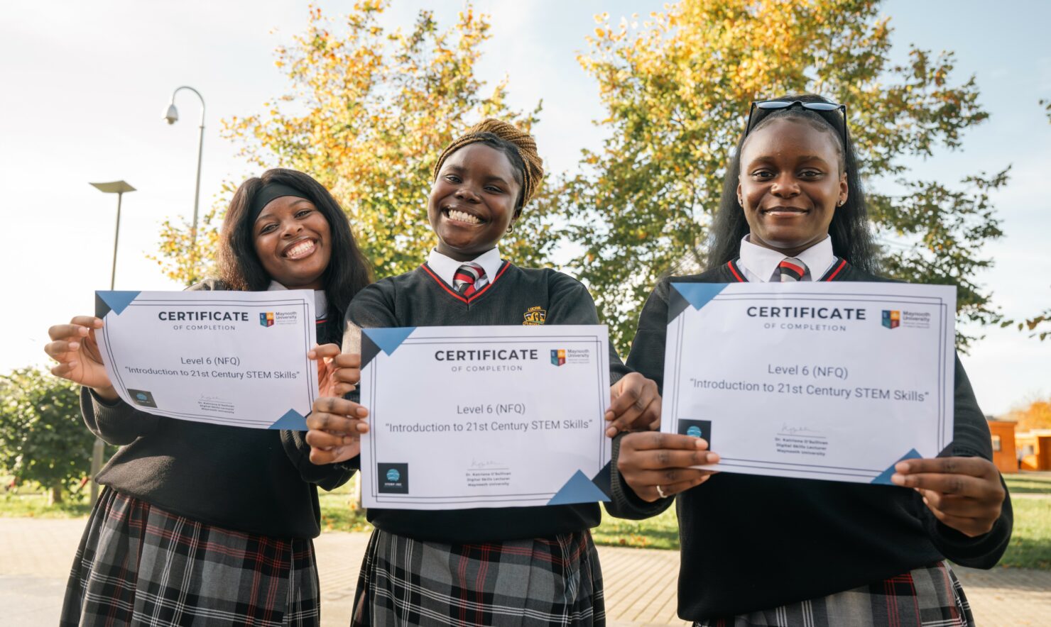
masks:
[[(733, 262), (661, 280), (639, 317), (627, 365), (663, 386), (671, 283), (743, 280)], [(821, 280), (888, 279), (837, 259)], [(989, 427), (959, 358), (954, 402), (951, 455), (991, 460)], [(674, 498), (646, 503), (632, 492), (616, 472), (616, 444), (619, 438), (611, 514), (642, 519), (667, 508)], [(943, 558), (989, 568), (1007, 548), (1012, 522), (1010, 498), (991, 531), (968, 538), (939, 522), (911, 489), (728, 473), (682, 493), (678, 516), (679, 615), (691, 621), (825, 597)]]

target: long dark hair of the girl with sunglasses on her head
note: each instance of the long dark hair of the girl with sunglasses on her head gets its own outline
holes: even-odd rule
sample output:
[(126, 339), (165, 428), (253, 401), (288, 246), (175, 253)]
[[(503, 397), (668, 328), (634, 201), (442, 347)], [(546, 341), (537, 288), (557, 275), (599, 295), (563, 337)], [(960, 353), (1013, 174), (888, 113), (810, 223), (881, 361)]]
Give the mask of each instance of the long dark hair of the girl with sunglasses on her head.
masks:
[[(812, 93), (783, 96), (777, 100), (831, 102)], [(842, 150), (843, 163), (846, 168), (848, 193), (847, 201), (842, 207), (837, 207), (832, 214), (832, 222), (828, 225), (828, 234), (832, 238), (832, 252), (836, 256), (846, 259), (851, 266), (866, 272), (875, 272), (875, 249), (872, 244), (868, 211), (865, 208), (865, 192), (862, 189), (861, 176), (858, 174), (858, 156), (854, 154), (853, 143), (843, 126), (843, 113), (840, 111), (813, 111), (800, 107), (772, 110), (757, 108), (753, 114), (751, 132), (754, 133), (774, 120), (782, 118), (806, 122), (836, 137), (836, 145)], [(846, 137), (845, 145), (844, 137)], [(737, 150), (726, 168), (726, 180), (723, 182), (719, 211), (712, 224), (708, 236), (709, 269), (736, 259), (741, 253), (741, 238), (748, 233), (748, 223), (744, 220), (744, 210), (737, 202), (737, 185), (741, 174), (741, 148), (744, 146), (744, 140), (745, 135), (742, 133), (741, 139), (737, 142)]]

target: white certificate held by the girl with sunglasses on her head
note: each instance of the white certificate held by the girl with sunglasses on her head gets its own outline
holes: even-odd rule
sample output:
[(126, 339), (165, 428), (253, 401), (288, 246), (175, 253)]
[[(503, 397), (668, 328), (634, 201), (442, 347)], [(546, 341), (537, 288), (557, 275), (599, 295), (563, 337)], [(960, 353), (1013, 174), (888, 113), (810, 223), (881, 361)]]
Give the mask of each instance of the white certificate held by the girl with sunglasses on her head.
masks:
[(890, 483), (952, 441), (956, 292), (672, 284), (661, 431), (727, 473)]

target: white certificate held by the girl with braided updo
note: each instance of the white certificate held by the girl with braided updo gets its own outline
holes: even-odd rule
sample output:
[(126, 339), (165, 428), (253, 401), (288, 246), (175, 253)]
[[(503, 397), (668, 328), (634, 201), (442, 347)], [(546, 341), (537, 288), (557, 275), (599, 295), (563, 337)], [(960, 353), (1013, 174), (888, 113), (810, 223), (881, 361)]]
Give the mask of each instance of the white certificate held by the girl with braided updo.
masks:
[(604, 326), (364, 329), (365, 506), (607, 501), (607, 347)]

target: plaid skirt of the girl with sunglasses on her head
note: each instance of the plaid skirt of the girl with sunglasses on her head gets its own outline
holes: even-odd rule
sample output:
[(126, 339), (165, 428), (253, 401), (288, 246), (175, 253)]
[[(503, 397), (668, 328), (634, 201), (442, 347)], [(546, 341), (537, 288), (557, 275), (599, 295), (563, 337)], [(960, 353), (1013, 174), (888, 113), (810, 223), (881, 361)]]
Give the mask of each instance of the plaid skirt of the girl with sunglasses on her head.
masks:
[(695, 627), (970, 627), (971, 606), (945, 562), (867, 586)]

